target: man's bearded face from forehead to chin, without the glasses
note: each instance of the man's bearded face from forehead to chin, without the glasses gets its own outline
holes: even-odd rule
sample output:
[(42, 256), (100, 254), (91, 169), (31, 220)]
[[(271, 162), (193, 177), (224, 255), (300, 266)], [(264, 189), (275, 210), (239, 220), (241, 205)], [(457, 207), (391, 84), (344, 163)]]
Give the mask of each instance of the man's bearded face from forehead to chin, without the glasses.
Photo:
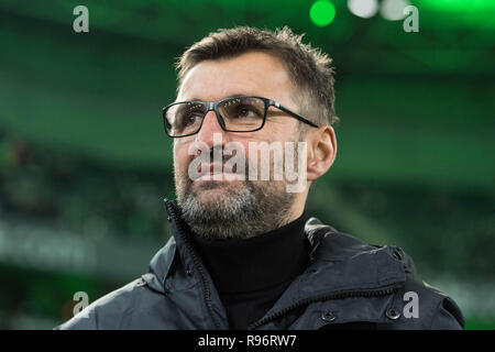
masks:
[[(186, 75), (177, 101), (216, 101), (239, 95), (268, 98), (293, 111), (299, 111), (285, 67), (277, 58), (264, 53), (199, 63)], [(227, 180), (226, 177), (219, 180), (209, 177), (193, 180), (189, 165), (199, 156), (191, 155), (190, 148), (201, 144), (210, 151), (221, 151), (227, 144), (235, 143), (245, 151), (248, 174), (254, 160), (261, 165), (261, 154), (249, 153), (250, 142), (280, 142), (284, 145), (285, 142), (298, 140), (298, 120), (274, 107), (268, 109), (262, 130), (242, 133), (223, 131), (215, 111), (209, 111), (197, 134), (174, 140), (177, 201), (186, 222), (205, 237), (248, 238), (292, 220), (295, 200), (300, 195), (288, 193), (285, 179), (273, 179), (273, 157), (268, 180), (251, 180), (248, 177), (245, 180)], [(222, 158), (223, 163), (227, 158)], [(206, 167), (209, 169), (210, 165)]]

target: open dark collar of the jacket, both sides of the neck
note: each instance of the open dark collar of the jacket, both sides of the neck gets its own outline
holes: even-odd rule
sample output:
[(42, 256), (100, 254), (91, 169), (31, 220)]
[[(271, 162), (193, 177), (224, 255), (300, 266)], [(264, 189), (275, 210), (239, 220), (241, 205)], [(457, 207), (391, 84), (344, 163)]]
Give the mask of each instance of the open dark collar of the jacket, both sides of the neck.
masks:
[[(187, 267), (193, 265), (190, 252), (178, 235), (178, 228), (184, 227), (184, 223), (178, 222), (184, 221), (177, 213), (177, 205), (167, 199), (165, 202), (168, 205), (166, 209), (173, 235), (152, 258), (150, 272), (142, 275), (147, 285), (160, 293), (165, 292), (165, 279), (174, 261), (180, 261)], [(310, 218), (306, 222), (305, 232), (312, 248), (310, 264), (288, 287), (276, 306), (336, 292), (373, 289), (404, 283), (406, 273), (414, 271), (404, 253), (397, 258), (396, 248), (363, 243), (323, 224), (317, 218)]]

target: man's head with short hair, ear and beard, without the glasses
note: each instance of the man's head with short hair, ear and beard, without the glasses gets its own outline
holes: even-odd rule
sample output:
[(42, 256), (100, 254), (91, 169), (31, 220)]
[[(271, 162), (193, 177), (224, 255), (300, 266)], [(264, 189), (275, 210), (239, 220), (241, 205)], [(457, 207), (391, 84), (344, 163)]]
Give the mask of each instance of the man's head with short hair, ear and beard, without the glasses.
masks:
[[(180, 61), (176, 101), (218, 101), (232, 96), (268, 98), (297, 112), (319, 128), (272, 106), (262, 129), (226, 132), (215, 111), (207, 112), (198, 133), (174, 140), (177, 201), (195, 232), (209, 238), (248, 238), (280, 227), (301, 215), (309, 185), (334, 161), (337, 143), (330, 127), (334, 117), (334, 92), (330, 58), (301, 43), (288, 29), (277, 32), (252, 28), (219, 30), (189, 47)], [(197, 119), (197, 117), (195, 117)], [(265, 145), (260, 143), (265, 142)], [(270, 155), (270, 179), (191, 179), (190, 164), (199, 157), (191, 150), (224, 150), (234, 143), (245, 151), (245, 173), (263, 163), (250, 153), (250, 144), (292, 142), (296, 161)], [(306, 142), (305, 153), (297, 143)], [(284, 154), (288, 150), (284, 148)], [(239, 151), (238, 151), (239, 152)], [(302, 154), (302, 155), (301, 155)], [(230, 158), (222, 154), (220, 163)], [(297, 156), (305, 163), (298, 163)], [(233, 157), (233, 155), (231, 156)], [(300, 193), (287, 191), (287, 179), (274, 177), (275, 165), (294, 164), (304, 174)], [(212, 165), (212, 164), (211, 164)], [(305, 165), (304, 169), (298, 165)], [(201, 167), (205, 167), (202, 165)], [(199, 167), (199, 168), (201, 168)], [(210, 169), (210, 164), (206, 165)], [(300, 175), (299, 175), (300, 176)]]

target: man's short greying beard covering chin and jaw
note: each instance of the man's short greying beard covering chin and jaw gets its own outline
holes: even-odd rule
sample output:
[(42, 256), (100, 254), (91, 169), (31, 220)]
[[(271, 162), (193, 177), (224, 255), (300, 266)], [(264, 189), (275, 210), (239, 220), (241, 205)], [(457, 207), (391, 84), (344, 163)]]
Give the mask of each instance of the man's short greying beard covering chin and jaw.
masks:
[(295, 194), (286, 193), (283, 182), (244, 180), (240, 187), (228, 186), (221, 199), (205, 205), (186, 179), (185, 189), (177, 187), (177, 204), (190, 229), (204, 238), (246, 239), (288, 222)]

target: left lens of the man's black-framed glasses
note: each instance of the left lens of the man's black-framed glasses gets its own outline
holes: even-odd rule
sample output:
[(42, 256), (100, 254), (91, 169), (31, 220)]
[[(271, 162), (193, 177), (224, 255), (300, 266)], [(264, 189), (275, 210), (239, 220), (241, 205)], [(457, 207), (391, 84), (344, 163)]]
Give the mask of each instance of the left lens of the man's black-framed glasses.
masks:
[(198, 132), (205, 118), (206, 107), (197, 101), (180, 102), (164, 112), (165, 130), (170, 136)]

